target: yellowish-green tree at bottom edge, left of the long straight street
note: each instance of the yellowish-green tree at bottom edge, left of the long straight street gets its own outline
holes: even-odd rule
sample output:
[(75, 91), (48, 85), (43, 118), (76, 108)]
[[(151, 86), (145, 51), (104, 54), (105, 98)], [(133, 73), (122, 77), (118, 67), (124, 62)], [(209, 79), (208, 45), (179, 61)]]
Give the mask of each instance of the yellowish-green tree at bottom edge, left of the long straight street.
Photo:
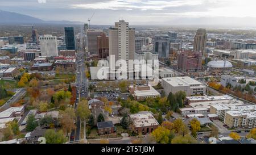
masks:
[(54, 129), (47, 129), (44, 137), (47, 144), (63, 144), (66, 141), (62, 130), (55, 132)]

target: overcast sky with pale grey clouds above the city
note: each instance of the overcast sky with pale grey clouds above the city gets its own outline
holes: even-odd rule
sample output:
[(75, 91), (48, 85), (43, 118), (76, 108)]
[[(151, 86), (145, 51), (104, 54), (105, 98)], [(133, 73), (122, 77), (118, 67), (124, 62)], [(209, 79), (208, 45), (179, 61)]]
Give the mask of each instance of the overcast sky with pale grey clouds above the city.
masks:
[(2, 10), (43, 20), (86, 22), (95, 12), (92, 24), (119, 19), (131, 24), (189, 24), (198, 18), (256, 18), (255, 6), (255, 0), (0, 0)]

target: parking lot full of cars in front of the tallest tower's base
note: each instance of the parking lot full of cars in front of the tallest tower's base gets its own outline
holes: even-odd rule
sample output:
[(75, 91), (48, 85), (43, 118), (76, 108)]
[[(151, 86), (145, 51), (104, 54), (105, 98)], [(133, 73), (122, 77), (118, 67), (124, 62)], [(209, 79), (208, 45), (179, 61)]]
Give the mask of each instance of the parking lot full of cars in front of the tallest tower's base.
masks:
[(108, 100), (117, 100), (118, 97), (126, 100), (129, 95), (128, 93), (123, 94), (123, 93), (119, 93), (118, 91), (91, 93), (91, 95), (92, 94), (94, 95), (94, 98), (105, 97), (105, 98), (108, 98)]

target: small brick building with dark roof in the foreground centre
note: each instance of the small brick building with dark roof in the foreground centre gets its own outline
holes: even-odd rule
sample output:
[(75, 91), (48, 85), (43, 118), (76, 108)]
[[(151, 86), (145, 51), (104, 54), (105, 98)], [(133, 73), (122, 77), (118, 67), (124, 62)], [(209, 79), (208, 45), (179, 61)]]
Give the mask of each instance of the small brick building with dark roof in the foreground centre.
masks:
[(98, 133), (100, 135), (114, 133), (116, 130), (112, 121), (98, 122), (97, 127), (98, 127)]

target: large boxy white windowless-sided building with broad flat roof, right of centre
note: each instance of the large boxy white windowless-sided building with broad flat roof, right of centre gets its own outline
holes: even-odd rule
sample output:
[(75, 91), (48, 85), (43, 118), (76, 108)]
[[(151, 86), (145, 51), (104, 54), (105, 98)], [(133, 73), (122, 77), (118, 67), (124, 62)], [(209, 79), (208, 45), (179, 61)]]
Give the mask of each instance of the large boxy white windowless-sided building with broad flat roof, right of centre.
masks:
[(188, 96), (205, 94), (206, 87), (199, 81), (190, 77), (172, 77), (163, 78), (162, 87), (168, 95), (169, 93), (175, 94), (178, 91), (185, 91)]

